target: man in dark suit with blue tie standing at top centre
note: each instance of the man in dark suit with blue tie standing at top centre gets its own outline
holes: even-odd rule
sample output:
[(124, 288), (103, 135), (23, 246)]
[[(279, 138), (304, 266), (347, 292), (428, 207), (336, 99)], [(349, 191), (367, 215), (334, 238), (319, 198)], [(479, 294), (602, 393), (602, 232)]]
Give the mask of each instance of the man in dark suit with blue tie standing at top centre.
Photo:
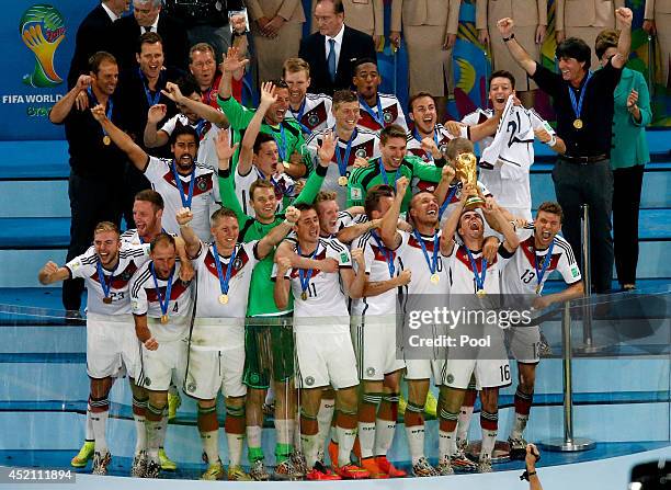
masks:
[(319, 32), (303, 39), (298, 55), (310, 64), (310, 92), (350, 89), (356, 61), (377, 60), (373, 37), (344, 25), (342, 0), (319, 0), (315, 19)]

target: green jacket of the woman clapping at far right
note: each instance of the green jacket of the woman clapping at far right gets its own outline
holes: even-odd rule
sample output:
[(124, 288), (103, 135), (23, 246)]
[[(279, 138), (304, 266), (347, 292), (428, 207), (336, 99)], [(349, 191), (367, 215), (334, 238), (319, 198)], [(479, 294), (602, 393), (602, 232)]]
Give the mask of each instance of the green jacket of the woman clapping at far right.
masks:
[[(640, 123), (627, 111), (627, 96), (636, 90), (640, 109)], [(650, 110), (650, 93), (640, 72), (625, 68), (619, 83), (615, 88), (615, 111), (613, 114), (613, 147), (611, 149), (611, 166), (613, 169), (624, 169), (644, 166), (650, 161), (646, 126), (652, 121)]]

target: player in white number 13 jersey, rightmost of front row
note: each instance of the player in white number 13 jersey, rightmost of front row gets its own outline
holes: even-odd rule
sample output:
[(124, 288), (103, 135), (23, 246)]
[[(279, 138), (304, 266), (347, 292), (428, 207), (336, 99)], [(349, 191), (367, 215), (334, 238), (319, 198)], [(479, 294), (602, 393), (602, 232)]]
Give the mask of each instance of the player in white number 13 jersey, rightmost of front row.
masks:
[[(519, 230), (520, 248), (503, 272), (502, 288), (508, 295), (536, 296), (534, 307), (547, 308), (583, 295), (582, 276), (571, 246), (561, 236), (564, 213), (557, 203), (545, 202), (538, 206), (533, 227)], [(564, 290), (541, 296), (543, 286), (553, 271), (559, 272), (568, 285)], [(519, 385), (515, 391), (515, 420), (508, 438), (511, 457), (523, 458), (526, 442), (523, 432), (528, 421), (534, 397), (538, 342), (538, 326), (509, 329), (508, 341), (518, 361)], [(459, 421), (460, 423), (460, 421)]]

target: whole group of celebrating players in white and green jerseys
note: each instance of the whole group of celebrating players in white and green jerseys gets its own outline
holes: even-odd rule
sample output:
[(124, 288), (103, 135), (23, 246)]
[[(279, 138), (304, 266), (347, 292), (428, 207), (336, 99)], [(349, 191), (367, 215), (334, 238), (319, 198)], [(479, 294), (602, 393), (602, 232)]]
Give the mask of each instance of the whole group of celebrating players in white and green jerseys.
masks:
[[(244, 62), (229, 49), (216, 109), (201, 101), (192, 80), (166, 84), (163, 96), (181, 114), (159, 127), (166, 105), (152, 104), (144, 147), (169, 143), (169, 158), (148, 155), (114, 124), (116, 61), (109, 54), (95, 54), (91, 75), (54, 109), (53, 121), (62, 121), (84, 94), (84, 112), (98, 125), (81, 130), (125, 153), (152, 187), (135, 195), (136, 229), (122, 233), (102, 221), (86, 253), (39, 273), (43, 284), (81, 277), (89, 292), (87, 443), (73, 464), (92, 458), (93, 472), (106, 474), (109, 394), (125, 374), (136, 477), (156, 478), (166, 468), (171, 384), (197, 402), (203, 479), (406, 476), (387, 458), (401, 379), (411, 474), (490, 471), (498, 390), (512, 383), (508, 353), (403, 358), (395, 312), (399, 301), (412, 309), (420, 295), (448, 305), (454, 295), (526, 294), (542, 309), (582, 294), (571, 248), (558, 235), (560, 206), (543, 203), (533, 221), (531, 214), (533, 140), (557, 152), (564, 141), (515, 103), (515, 80), (505, 71), (490, 77), (492, 109), (464, 123), (441, 124), (432, 95), (413, 94), (408, 129), (398, 100), (377, 92), (373, 59), (356, 62), (355, 92), (332, 98), (306, 93), (309, 65), (288, 59), (284, 80), (262, 86), (255, 111), (231, 96)], [(479, 180), (464, 170), (474, 168), (473, 141), (484, 148)], [(568, 286), (541, 296), (553, 271)], [(490, 333), (502, 346), (502, 330)], [(524, 451), (539, 330), (515, 331), (507, 341), (519, 366), (509, 442)], [(431, 383), (440, 389), (436, 466), (424, 444)], [(276, 445), (269, 472), (262, 407), (271, 387)], [(465, 446), (476, 389), (482, 445), (474, 461)], [(218, 448), (219, 392), (227, 470)], [(249, 470), (241, 466), (246, 441)]]

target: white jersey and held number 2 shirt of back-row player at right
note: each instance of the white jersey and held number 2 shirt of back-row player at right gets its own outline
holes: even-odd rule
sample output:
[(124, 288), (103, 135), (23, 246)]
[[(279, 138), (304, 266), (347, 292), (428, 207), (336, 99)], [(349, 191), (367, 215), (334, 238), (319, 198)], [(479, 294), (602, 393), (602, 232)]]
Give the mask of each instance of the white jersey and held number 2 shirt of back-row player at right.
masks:
[[(492, 117), (493, 113), (486, 113)], [(479, 179), (494, 193), (503, 207), (531, 210), (528, 170), (534, 163), (534, 129), (555, 130), (532, 109), (508, 100), (493, 138), (482, 140)]]

